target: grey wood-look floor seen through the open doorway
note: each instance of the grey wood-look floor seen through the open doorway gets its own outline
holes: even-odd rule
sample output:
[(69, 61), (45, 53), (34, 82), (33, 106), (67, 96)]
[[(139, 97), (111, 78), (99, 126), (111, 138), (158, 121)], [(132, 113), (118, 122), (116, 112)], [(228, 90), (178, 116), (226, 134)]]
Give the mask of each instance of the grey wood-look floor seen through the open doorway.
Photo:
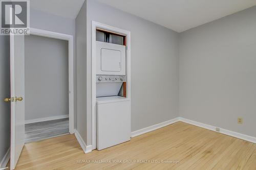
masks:
[(44, 140), (69, 133), (69, 118), (25, 125), (25, 143)]

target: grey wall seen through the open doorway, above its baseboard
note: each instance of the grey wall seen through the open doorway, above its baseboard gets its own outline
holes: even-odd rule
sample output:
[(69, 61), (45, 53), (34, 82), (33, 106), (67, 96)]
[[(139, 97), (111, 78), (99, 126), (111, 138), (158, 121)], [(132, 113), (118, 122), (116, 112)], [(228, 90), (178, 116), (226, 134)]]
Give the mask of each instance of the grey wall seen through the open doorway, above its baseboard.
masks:
[(25, 120), (69, 114), (69, 43), (25, 36)]

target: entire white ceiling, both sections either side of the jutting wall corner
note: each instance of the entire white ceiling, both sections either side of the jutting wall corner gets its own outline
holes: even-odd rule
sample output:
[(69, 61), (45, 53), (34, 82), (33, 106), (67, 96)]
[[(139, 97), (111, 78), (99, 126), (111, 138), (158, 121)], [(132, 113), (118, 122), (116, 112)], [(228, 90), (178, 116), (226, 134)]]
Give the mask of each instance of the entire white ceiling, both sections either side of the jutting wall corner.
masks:
[[(95, 0), (93, 0), (95, 1)], [(256, 0), (98, 0), (176, 32), (256, 5)], [(84, 0), (30, 0), (31, 8), (76, 18)]]

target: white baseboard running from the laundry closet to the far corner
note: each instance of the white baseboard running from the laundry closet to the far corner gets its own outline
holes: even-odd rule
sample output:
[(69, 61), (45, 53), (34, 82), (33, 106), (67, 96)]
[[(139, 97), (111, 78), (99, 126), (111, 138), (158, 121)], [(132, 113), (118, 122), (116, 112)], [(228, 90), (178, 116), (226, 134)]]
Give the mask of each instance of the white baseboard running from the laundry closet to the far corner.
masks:
[(160, 124), (156, 124), (156, 125), (153, 125), (153, 126), (150, 126), (150, 127), (146, 127), (146, 128), (143, 128), (143, 129), (134, 131), (134, 132), (132, 132), (132, 135), (131, 135), (131, 136), (132, 136), (132, 137), (139, 136), (139, 135), (142, 135), (142, 134), (144, 134), (144, 133), (151, 132), (151, 131), (154, 131), (154, 130), (156, 130), (156, 129), (159, 129), (159, 128), (168, 126), (168, 125), (170, 125), (170, 124), (174, 124), (174, 123), (176, 123), (176, 122), (179, 122), (179, 117), (174, 118), (174, 119), (167, 120), (167, 121), (162, 122), (162, 123), (160, 123)]

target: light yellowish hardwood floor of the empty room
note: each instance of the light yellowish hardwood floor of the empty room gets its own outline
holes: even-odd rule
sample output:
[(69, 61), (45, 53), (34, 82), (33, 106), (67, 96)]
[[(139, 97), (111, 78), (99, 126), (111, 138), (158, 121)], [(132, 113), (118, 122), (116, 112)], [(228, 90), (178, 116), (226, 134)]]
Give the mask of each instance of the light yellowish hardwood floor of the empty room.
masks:
[[(111, 163), (88, 163), (102, 160)], [(141, 161), (118, 163), (118, 161)], [(142, 163), (150, 160), (150, 163)], [(169, 163), (157, 161), (169, 160)], [(179, 161), (170, 162), (170, 161)], [(156, 162), (154, 162), (156, 161)], [(27, 143), (16, 169), (256, 169), (256, 144), (178, 122), (84, 154), (74, 135)]]

